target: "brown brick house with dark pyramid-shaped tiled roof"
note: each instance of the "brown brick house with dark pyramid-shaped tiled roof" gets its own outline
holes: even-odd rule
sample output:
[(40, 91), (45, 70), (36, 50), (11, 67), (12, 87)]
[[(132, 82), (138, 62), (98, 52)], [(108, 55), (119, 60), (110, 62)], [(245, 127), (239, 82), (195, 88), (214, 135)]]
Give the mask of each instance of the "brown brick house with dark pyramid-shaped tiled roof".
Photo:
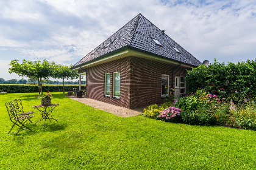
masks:
[(186, 70), (202, 63), (139, 14), (71, 67), (86, 75), (87, 98), (129, 109), (186, 92)]

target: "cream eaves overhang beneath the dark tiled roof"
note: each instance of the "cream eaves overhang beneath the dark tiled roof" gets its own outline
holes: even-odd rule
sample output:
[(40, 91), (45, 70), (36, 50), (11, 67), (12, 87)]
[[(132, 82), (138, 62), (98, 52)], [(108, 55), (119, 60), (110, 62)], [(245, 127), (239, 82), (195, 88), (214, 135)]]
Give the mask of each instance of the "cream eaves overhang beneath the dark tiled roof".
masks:
[(124, 58), (126, 56), (137, 56), (140, 58), (146, 58), (148, 60), (154, 60), (162, 63), (171, 63), (171, 64), (177, 64), (177, 65), (181, 64), (181, 66), (190, 67), (190, 68), (196, 67), (191, 64), (183, 63), (177, 60), (172, 60), (171, 58), (167, 58), (165, 56), (147, 52), (145, 50), (137, 49), (135, 47), (125, 46), (125, 47), (122, 47), (121, 49), (99, 56), (98, 58), (94, 58), (93, 60), (87, 61), (83, 64), (79, 64), (78, 66), (71, 68), (71, 70), (78, 71), (80, 68), (85, 69), (87, 67), (107, 63), (109, 61), (118, 60), (119, 58)]

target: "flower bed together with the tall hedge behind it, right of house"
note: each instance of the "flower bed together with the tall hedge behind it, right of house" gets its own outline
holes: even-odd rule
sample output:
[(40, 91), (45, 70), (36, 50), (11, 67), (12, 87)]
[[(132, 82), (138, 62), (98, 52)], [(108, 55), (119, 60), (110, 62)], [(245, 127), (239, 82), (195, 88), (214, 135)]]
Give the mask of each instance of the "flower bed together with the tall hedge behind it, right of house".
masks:
[(160, 106), (144, 109), (144, 116), (174, 123), (227, 126), (256, 131), (256, 62), (227, 66), (215, 63), (187, 73), (187, 94), (174, 100), (172, 91)]

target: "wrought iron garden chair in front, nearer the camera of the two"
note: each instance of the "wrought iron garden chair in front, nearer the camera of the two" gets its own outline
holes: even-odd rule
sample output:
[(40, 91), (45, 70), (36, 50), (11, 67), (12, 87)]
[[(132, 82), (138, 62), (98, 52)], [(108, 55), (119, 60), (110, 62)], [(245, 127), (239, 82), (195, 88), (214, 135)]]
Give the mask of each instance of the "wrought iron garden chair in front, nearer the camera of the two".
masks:
[[(15, 125), (20, 127), (18, 132), (20, 132), (21, 129), (28, 129), (28, 130), (32, 131), (31, 129), (29, 129), (29, 127), (25, 126), (25, 123), (28, 120), (32, 123), (30, 118), (34, 117), (34, 115), (21, 115), (19, 117), (17, 115), (15, 106), (12, 103), (5, 103), (5, 106), (6, 106), (6, 109), (8, 111), (10, 121), (12, 121), (12, 123), (13, 123), (12, 128), (10, 129), (8, 134), (12, 131), (12, 129)], [(26, 127), (26, 128), (24, 128), (24, 127)], [(17, 135), (18, 132), (13, 132), (13, 133), (16, 133), (16, 135)]]

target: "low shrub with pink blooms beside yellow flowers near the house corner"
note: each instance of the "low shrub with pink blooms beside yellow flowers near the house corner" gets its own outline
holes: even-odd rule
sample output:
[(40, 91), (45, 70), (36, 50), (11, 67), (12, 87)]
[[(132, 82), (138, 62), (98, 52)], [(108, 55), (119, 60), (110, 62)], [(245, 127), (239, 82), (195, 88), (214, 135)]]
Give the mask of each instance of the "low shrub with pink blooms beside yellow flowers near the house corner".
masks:
[(158, 115), (158, 118), (162, 121), (169, 121), (171, 118), (176, 117), (177, 115), (180, 115), (180, 112), (182, 110), (176, 107), (168, 107), (165, 110), (160, 111), (160, 115)]

